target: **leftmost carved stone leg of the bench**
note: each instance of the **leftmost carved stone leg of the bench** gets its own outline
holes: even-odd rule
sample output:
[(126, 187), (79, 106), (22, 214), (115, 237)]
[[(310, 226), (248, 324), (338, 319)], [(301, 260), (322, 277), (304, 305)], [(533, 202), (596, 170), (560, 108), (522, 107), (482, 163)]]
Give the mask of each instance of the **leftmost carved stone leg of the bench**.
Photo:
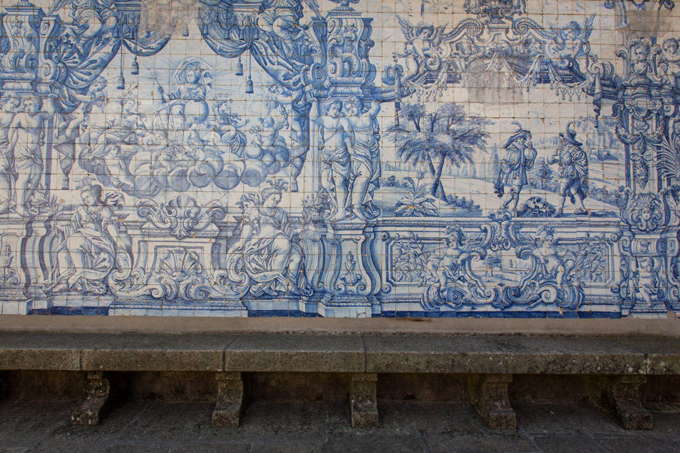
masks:
[(80, 406), (71, 415), (71, 424), (99, 424), (112, 410), (117, 398), (115, 386), (103, 371), (90, 371), (85, 375), (84, 396)]

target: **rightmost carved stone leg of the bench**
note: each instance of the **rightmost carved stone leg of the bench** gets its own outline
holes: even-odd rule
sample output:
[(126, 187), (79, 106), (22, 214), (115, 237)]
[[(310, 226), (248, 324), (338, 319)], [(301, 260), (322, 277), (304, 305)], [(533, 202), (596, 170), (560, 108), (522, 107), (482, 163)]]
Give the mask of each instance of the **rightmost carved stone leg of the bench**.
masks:
[(640, 403), (640, 384), (646, 376), (591, 376), (588, 399), (624, 429), (652, 429), (653, 417)]

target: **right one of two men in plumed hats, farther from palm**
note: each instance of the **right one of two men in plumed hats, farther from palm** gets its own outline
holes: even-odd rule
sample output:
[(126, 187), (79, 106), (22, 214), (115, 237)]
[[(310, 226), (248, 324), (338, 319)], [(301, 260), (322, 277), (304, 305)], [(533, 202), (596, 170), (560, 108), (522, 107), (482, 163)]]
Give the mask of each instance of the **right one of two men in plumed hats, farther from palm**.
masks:
[(574, 122), (567, 125), (566, 133), (559, 135), (559, 148), (548, 158), (548, 163), (559, 164), (560, 205), (556, 217), (563, 214), (564, 202), (569, 195), (572, 204), (576, 205), (576, 215), (588, 214), (583, 200), (588, 192), (588, 155), (582, 143), (576, 140)]

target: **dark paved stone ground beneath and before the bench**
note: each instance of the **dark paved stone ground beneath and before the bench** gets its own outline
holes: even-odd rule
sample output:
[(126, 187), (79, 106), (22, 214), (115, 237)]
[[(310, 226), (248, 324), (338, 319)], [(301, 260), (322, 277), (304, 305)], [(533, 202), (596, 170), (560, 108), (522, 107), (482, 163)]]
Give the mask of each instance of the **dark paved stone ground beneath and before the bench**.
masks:
[(70, 426), (73, 403), (0, 403), (0, 453), (677, 452), (680, 413), (624, 431), (586, 403), (515, 403), (520, 429), (487, 429), (465, 403), (380, 401), (380, 427), (349, 426), (339, 403), (253, 403), (237, 429), (210, 426), (212, 403), (133, 401), (100, 426)]

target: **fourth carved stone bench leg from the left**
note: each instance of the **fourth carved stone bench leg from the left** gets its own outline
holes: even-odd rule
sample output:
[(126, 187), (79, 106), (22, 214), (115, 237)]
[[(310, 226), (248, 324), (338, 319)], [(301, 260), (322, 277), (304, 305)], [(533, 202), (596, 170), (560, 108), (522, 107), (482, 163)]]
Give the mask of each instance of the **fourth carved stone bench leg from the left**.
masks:
[(491, 429), (515, 429), (517, 417), (508, 399), (512, 374), (473, 374), (468, 380), (470, 401)]

